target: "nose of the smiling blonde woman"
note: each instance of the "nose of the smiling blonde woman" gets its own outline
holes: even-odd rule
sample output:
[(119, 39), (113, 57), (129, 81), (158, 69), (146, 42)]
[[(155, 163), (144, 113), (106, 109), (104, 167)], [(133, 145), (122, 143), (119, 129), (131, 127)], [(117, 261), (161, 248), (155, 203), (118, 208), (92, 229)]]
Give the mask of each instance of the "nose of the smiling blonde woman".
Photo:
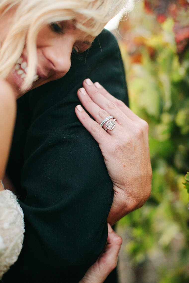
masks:
[(72, 46), (52, 46), (48, 48), (45, 57), (49, 67), (57, 73), (66, 74), (71, 67)]

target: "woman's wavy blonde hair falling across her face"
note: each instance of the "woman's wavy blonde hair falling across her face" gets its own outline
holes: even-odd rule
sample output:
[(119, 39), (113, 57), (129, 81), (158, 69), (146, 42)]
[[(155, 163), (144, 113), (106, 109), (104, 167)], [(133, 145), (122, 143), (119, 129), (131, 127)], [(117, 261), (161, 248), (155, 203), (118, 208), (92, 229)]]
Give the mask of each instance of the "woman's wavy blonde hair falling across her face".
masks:
[(97, 36), (118, 12), (129, 12), (133, 0), (0, 0), (0, 15), (11, 8), (16, 12), (11, 28), (0, 49), (0, 76), (7, 78), (23, 48), (27, 48), (26, 89), (33, 82), (37, 64), (36, 40), (44, 25), (81, 16), (78, 29)]

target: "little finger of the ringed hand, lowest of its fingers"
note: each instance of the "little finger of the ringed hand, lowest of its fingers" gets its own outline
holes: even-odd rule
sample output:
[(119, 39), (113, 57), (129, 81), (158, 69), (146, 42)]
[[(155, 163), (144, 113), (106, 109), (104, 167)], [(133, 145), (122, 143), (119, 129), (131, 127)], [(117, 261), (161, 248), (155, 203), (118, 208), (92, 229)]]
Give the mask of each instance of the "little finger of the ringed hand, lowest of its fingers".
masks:
[(107, 135), (105, 130), (100, 127), (100, 125), (96, 121), (91, 119), (91, 117), (86, 113), (81, 105), (76, 106), (75, 113), (82, 125), (88, 130), (88, 132), (90, 132), (90, 134), (94, 137), (97, 143), (99, 143), (99, 145), (105, 140), (107, 143), (111, 142), (111, 136)]

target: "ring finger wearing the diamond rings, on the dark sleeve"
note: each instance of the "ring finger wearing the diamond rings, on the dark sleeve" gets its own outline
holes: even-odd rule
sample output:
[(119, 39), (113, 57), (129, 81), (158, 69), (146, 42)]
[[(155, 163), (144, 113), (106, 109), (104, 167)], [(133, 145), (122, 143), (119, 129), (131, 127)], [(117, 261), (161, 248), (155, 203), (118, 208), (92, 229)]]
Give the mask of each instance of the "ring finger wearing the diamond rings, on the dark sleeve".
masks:
[[(78, 90), (78, 97), (83, 104), (83, 106), (86, 108), (86, 110), (94, 117), (94, 119), (97, 121), (97, 123), (101, 124), (101, 122), (110, 116), (110, 114), (103, 110), (101, 107), (99, 107), (86, 93), (86, 90), (82, 87)], [(113, 119), (111, 119), (112, 121)], [(108, 123), (108, 122), (107, 122)], [(106, 123), (105, 123), (106, 124)], [(106, 128), (106, 125), (103, 125), (103, 128)], [(115, 129), (116, 132), (120, 133), (120, 125), (114, 121), (114, 124), (116, 125)], [(112, 128), (113, 129), (113, 128)], [(113, 131), (109, 130), (109, 134), (112, 134)], [(115, 130), (114, 130), (115, 134)]]

